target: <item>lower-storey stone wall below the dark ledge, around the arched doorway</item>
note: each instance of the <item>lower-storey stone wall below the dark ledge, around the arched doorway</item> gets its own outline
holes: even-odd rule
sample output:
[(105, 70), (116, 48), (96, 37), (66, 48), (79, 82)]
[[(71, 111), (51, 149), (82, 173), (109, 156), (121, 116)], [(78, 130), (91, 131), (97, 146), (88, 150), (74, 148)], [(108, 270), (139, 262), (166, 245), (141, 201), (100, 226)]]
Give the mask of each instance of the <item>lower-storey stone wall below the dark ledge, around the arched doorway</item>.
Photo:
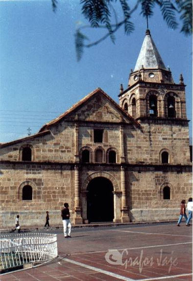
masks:
[[(71, 221), (75, 219), (75, 170), (70, 165), (4, 164), (1, 166), (1, 225), (12, 227), (15, 216), (21, 225), (43, 226), (49, 210), (52, 225), (61, 224), (60, 210), (69, 203)], [(105, 168), (105, 169), (104, 169)], [(114, 190), (114, 221), (121, 222), (122, 186), (119, 165), (80, 166), (79, 188), (83, 222), (86, 221), (86, 190), (90, 180), (104, 177)], [(144, 165), (126, 166), (126, 198), (130, 221), (176, 219), (180, 201), (191, 197), (190, 171), (173, 168), (167, 172)], [(22, 200), (22, 186), (30, 184), (33, 200)], [(163, 200), (163, 187), (171, 188), (171, 199)], [(105, 188), (105, 187), (104, 187)], [(161, 211), (160, 211), (161, 209)], [(167, 212), (168, 209), (168, 212)], [(151, 215), (152, 214), (152, 215)]]

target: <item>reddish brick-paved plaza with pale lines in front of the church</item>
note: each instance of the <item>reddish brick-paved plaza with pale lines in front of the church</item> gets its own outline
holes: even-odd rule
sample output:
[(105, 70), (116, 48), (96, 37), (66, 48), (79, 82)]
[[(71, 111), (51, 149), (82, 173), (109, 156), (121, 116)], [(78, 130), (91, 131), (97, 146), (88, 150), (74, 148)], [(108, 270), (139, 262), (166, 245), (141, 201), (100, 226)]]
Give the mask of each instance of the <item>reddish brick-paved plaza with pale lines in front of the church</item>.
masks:
[(74, 228), (71, 239), (64, 239), (61, 228), (57, 231), (58, 259), (0, 280), (192, 280), (192, 226), (184, 222), (180, 227), (163, 223)]

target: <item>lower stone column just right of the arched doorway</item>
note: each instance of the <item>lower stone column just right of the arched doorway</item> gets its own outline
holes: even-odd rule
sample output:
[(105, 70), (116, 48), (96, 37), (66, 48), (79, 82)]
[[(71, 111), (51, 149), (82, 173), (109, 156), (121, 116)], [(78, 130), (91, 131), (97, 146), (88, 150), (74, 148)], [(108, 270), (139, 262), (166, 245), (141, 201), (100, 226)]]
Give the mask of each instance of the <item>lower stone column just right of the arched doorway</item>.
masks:
[(122, 222), (129, 222), (128, 206), (126, 199), (125, 168), (123, 166), (120, 168), (120, 178), (120, 185), (122, 189)]

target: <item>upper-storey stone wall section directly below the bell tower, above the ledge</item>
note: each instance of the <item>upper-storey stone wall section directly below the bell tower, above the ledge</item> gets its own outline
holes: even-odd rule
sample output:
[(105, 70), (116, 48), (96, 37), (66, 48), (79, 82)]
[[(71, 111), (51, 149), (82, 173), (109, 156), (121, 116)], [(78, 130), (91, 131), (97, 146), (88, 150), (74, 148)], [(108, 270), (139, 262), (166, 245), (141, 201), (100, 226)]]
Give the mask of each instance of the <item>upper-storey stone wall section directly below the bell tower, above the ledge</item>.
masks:
[(141, 123), (141, 130), (126, 127), (125, 138), (126, 161), (129, 163), (142, 161), (159, 165), (160, 153), (165, 149), (169, 153), (170, 164), (191, 165), (187, 125)]

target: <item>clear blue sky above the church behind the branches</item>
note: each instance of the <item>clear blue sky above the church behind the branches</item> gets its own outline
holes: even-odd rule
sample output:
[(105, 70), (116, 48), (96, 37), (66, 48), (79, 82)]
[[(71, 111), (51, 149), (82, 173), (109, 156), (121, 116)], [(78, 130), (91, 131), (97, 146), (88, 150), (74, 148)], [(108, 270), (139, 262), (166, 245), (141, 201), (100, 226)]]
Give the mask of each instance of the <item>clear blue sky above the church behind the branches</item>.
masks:
[[(137, 10), (132, 16), (131, 35), (120, 29), (115, 44), (108, 38), (86, 49), (78, 62), (74, 34), (77, 26), (87, 24), (79, 0), (58, 0), (56, 13), (50, 0), (1, 1), (0, 143), (27, 136), (29, 127), (32, 134), (38, 132), (97, 87), (118, 103), (119, 85), (127, 87), (146, 32), (146, 20), (139, 14)], [(183, 74), (190, 120), (191, 37), (180, 33), (180, 28), (168, 29), (159, 9), (149, 19), (149, 28), (174, 81), (179, 83)], [(88, 42), (102, 34), (101, 30), (84, 32)]]

